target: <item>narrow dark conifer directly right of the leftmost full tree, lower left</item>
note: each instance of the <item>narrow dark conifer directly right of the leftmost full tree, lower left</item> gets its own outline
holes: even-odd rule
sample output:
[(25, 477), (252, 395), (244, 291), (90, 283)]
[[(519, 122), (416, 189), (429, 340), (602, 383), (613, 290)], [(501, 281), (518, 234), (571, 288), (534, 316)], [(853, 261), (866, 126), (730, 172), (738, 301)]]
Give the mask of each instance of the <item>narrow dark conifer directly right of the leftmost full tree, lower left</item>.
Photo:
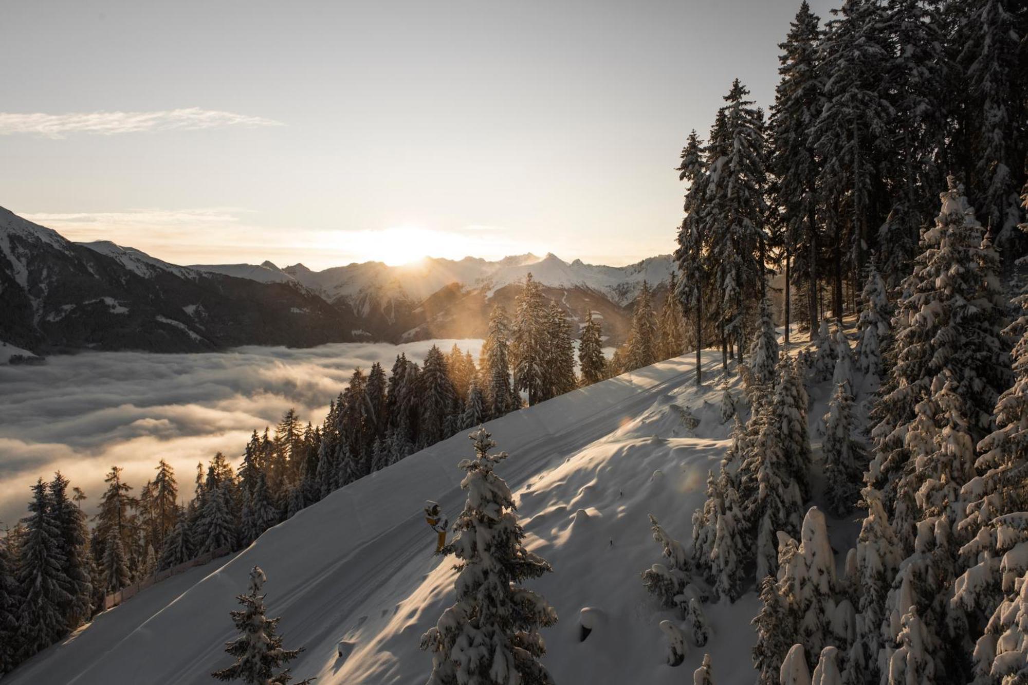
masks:
[(85, 548), (85, 514), (68, 499), (68, 479), (58, 471), (49, 484), (51, 517), (58, 530), (59, 547), (64, 564), (61, 573), (68, 579), (64, 586), (71, 596), (65, 607), (65, 623), (75, 629), (93, 615), (93, 579), (89, 577)]

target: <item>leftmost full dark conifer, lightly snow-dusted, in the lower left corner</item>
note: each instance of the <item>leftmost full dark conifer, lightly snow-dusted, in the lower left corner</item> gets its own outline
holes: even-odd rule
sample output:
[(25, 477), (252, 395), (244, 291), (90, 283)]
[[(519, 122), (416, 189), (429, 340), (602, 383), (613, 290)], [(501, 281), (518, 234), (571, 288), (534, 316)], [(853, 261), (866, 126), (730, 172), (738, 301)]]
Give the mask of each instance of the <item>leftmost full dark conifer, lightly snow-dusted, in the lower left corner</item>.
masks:
[(66, 589), (71, 581), (62, 570), (66, 560), (61, 552), (61, 531), (42, 478), (32, 488), (29, 515), (22, 521), (25, 537), (19, 549), (16, 575), (21, 599), (19, 660), (48, 647), (68, 632), (66, 612), (72, 602)]

